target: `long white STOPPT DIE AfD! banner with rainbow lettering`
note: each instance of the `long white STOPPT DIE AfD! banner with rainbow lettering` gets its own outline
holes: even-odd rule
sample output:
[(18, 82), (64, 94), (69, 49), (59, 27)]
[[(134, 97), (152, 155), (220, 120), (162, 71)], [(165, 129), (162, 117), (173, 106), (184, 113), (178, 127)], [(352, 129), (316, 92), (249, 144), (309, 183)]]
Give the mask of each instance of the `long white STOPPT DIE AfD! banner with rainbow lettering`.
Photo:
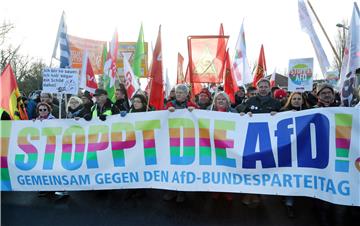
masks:
[(1, 190), (159, 188), (360, 206), (360, 109), (1, 121)]

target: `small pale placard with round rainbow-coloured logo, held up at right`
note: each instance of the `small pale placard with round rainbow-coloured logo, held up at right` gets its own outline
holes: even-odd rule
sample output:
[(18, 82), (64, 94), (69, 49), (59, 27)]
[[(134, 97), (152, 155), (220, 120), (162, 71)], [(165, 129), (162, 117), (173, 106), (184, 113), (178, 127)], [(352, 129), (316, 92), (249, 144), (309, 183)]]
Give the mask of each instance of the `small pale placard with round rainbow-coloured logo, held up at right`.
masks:
[(311, 91), (313, 85), (314, 58), (290, 59), (288, 90), (291, 92)]

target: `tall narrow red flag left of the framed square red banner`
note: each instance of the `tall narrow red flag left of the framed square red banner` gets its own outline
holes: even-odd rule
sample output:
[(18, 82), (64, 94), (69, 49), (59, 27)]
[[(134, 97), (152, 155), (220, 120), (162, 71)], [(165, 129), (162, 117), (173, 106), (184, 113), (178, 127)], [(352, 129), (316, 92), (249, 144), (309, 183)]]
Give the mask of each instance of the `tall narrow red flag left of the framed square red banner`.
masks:
[(164, 109), (164, 85), (162, 74), (162, 54), (161, 54), (161, 26), (159, 27), (159, 34), (155, 44), (155, 50), (153, 53), (153, 61), (151, 65), (150, 76), (151, 88), (150, 88), (150, 105), (156, 110)]

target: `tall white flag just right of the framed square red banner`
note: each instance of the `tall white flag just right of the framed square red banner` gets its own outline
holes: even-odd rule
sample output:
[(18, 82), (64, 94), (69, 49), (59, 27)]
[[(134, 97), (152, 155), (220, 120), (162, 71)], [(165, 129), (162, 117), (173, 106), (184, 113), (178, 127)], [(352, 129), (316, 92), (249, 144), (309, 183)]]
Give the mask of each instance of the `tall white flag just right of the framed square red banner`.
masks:
[(250, 66), (246, 55), (244, 22), (241, 24), (239, 37), (235, 46), (233, 70), (238, 86), (243, 86), (252, 82), (253, 78), (251, 76)]

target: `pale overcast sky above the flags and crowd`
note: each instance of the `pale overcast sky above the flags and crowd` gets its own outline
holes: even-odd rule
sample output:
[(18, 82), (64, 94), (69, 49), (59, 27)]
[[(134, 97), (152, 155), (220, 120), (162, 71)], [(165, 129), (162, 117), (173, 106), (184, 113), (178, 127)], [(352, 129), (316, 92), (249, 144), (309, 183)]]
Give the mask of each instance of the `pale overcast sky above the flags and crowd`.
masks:
[[(336, 24), (350, 21), (352, 0), (310, 0), (331, 41)], [(163, 62), (175, 83), (177, 52), (187, 62), (189, 35), (217, 35), (223, 23), (225, 35), (230, 35), (231, 57), (244, 19), (247, 54), (252, 65), (264, 44), (268, 73), (274, 68), (284, 73), (289, 59), (314, 57), (307, 34), (301, 31), (297, 0), (0, 0), (0, 19), (13, 23), (11, 43), (21, 44), (21, 53), (50, 62), (61, 13), (66, 13), (71, 35), (110, 41), (115, 27), (119, 41), (136, 41), (143, 23), (145, 41), (150, 44), (162, 25)], [(330, 62), (333, 52), (315, 25)], [(151, 49), (151, 48), (150, 48)], [(150, 54), (150, 53), (149, 53)], [(315, 73), (320, 76), (318, 61)]]

